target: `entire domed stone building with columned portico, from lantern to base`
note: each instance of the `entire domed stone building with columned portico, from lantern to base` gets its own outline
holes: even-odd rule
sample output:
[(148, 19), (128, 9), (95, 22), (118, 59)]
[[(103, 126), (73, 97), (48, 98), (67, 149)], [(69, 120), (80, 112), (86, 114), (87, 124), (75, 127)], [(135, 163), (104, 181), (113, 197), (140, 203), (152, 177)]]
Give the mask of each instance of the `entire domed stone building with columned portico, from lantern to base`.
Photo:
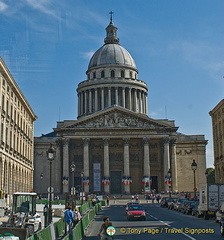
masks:
[(52, 185), (58, 194), (70, 192), (73, 185), (87, 193), (193, 192), (193, 160), (196, 187), (205, 183), (207, 140), (179, 133), (173, 120), (148, 116), (148, 86), (119, 44), (117, 30), (111, 18), (87, 79), (78, 84), (77, 120), (57, 122), (52, 133), (35, 138), (35, 191), (47, 192), (49, 186), (50, 144), (55, 148)]

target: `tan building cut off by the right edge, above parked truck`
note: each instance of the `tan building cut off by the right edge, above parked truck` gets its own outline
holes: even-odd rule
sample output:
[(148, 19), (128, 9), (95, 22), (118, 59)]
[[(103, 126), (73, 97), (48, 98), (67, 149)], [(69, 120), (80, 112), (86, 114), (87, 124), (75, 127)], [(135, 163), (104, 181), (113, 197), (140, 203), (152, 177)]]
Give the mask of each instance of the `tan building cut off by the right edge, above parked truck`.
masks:
[(215, 182), (224, 184), (224, 99), (209, 114), (212, 118)]

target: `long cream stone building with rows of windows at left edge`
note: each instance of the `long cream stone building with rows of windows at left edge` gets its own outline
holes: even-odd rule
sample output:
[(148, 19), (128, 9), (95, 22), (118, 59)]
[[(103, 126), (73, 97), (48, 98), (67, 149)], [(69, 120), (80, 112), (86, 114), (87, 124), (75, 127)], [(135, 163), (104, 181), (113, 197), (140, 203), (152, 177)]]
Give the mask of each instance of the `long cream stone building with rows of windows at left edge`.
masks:
[(7, 194), (33, 188), (32, 108), (0, 58), (0, 189)]

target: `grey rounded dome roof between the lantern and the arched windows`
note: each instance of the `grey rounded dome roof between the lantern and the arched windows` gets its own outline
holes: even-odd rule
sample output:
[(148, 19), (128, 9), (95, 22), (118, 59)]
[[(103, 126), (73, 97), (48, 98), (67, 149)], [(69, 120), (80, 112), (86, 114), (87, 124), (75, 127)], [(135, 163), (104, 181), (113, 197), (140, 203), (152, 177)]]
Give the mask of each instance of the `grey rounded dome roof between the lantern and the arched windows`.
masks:
[(136, 69), (131, 54), (119, 44), (105, 44), (92, 56), (88, 70), (93, 67), (105, 65), (120, 65)]

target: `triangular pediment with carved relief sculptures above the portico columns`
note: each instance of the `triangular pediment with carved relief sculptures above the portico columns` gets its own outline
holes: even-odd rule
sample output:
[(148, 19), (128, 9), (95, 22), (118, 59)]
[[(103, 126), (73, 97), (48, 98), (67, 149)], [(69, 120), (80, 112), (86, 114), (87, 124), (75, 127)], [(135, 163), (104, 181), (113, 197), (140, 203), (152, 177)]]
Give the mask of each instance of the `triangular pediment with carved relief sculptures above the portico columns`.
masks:
[(119, 106), (94, 113), (82, 119), (68, 122), (63, 128), (174, 128), (173, 121), (155, 120)]

